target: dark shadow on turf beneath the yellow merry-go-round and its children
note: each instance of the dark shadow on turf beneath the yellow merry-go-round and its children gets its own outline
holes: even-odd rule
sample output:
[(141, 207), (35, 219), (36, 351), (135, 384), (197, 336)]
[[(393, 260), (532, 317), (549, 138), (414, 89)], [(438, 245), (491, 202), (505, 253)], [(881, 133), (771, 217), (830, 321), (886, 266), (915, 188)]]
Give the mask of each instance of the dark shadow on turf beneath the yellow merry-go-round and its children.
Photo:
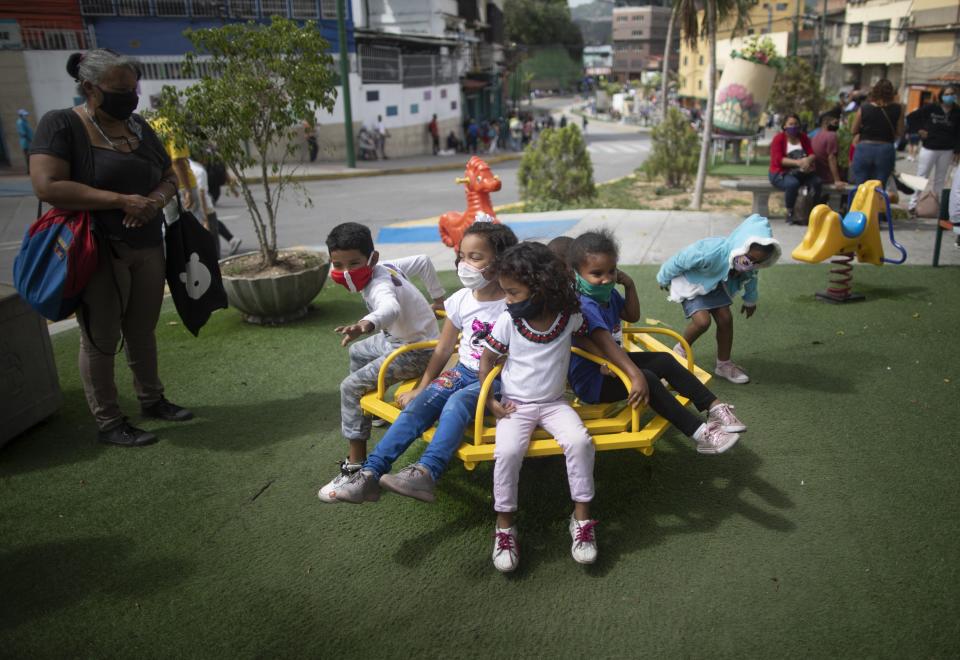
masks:
[[(679, 436), (661, 440), (649, 458), (630, 451), (599, 453), (592, 515), (600, 520), (600, 553), (596, 564), (583, 568), (587, 575), (603, 577), (618, 561), (673, 535), (709, 534), (737, 516), (774, 533), (793, 531), (796, 525), (780, 513), (792, 509), (793, 501), (757, 474), (762, 461), (748, 446), (748, 438), (716, 457), (696, 454)], [(455, 505), (441, 505), (443, 521), (403, 540), (394, 561), (408, 568), (422, 565), (442, 552), (445, 540), (469, 532), (478, 537), (478, 567), (489, 569), (481, 568), (476, 575), (494, 572), (490, 565), (494, 513), (485, 491), (470, 483), (477, 476), (462, 468), (451, 470), (438, 495)], [(752, 503), (758, 499), (762, 506)], [(525, 461), (517, 515), (521, 559), (509, 579), (532, 577), (550, 564), (570, 562), (577, 569), (570, 558), (567, 529), (572, 509), (563, 458)]]

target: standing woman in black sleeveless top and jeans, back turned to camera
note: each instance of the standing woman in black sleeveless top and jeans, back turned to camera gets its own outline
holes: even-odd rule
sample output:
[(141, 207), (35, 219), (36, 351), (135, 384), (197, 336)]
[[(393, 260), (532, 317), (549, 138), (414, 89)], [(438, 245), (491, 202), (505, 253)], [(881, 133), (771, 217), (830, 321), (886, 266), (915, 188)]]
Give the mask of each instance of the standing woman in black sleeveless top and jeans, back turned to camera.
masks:
[(897, 159), (896, 142), (903, 135), (903, 108), (895, 101), (893, 84), (882, 79), (857, 110), (852, 133), (854, 185), (877, 180), (886, 188)]

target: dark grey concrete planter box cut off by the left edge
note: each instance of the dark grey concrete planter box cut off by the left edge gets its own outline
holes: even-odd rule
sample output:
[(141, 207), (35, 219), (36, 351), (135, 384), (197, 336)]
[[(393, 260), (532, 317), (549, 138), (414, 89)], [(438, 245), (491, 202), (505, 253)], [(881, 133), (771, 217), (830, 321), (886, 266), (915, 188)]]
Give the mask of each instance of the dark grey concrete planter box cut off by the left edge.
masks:
[(47, 322), (0, 284), (0, 447), (62, 403)]

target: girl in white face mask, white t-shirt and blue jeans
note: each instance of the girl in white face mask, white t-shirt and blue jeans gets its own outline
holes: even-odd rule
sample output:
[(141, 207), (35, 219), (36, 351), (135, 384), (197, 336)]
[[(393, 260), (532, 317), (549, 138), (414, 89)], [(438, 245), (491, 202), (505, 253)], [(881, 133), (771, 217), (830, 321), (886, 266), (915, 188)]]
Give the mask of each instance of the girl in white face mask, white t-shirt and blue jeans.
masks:
[[(437, 480), (477, 410), (483, 385), (477, 378), (482, 342), (507, 308), (497, 281), (496, 261), (516, 244), (517, 237), (509, 227), (490, 221), (478, 220), (464, 233), (457, 253), (457, 274), (464, 288), (444, 302), (447, 320), (430, 362), (417, 387), (397, 397), (403, 412), (363, 467), (335, 490), (337, 502), (376, 501), (381, 487), (423, 502), (434, 501)], [(461, 333), (459, 361), (444, 371)], [(394, 461), (434, 422), (438, 422), (437, 430), (420, 460), (389, 474)]]

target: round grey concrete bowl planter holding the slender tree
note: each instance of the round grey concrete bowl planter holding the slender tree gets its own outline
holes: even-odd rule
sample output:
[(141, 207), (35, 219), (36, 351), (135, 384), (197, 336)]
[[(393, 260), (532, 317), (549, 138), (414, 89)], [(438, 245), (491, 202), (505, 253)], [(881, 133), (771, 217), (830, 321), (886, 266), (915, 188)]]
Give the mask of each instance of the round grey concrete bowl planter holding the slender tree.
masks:
[[(298, 250), (299, 252), (300, 250)], [(283, 250), (281, 250), (283, 253)], [(298, 273), (268, 277), (223, 275), (230, 306), (240, 310), (248, 323), (278, 324), (295, 321), (307, 313), (330, 271), (330, 260), (324, 253), (314, 253), (322, 263)], [(244, 255), (223, 259), (221, 267)]]

